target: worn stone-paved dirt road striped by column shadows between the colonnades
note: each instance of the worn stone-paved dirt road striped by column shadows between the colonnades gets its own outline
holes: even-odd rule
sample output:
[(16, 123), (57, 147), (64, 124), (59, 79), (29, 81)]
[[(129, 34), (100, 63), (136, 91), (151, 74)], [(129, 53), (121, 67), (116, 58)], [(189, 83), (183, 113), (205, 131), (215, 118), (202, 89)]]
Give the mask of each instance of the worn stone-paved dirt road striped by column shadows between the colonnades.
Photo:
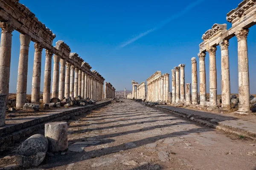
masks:
[[(197, 125), (133, 100), (122, 101), (72, 117), (68, 122), (69, 150), (47, 153), (36, 168), (254, 170), (256, 167), (256, 141)], [(2, 166), (15, 163), (15, 148), (10, 150), (0, 156)]]

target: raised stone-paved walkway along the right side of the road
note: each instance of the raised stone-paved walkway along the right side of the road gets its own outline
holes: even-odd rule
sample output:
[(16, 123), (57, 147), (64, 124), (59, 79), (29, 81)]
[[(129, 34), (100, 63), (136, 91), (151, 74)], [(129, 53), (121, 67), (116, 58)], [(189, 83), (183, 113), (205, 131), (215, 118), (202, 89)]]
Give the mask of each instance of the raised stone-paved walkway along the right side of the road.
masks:
[[(156, 107), (183, 114), (187, 118), (202, 119), (204, 121), (227, 127), (241, 133), (246, 133), (247, 135), (252, 137), (256, 137), (256, 120), (248, 120), (246, 119), (246, 116), (236, 116), (233, 115), (234, 113), (221, 114), (207, 111), (195, 111), (187, 108), (177, 108), (166, 105), (159, 105)], [(252, 117), (255, 118), (255, 116)]]

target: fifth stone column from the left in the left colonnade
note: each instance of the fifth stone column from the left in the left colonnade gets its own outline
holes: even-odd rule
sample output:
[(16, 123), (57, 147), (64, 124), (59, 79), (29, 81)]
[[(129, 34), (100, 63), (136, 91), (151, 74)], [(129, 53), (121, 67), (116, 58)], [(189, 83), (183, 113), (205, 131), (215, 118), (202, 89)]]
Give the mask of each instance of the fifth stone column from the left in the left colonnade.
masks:
[(58, 98), (60, 59), (59, 55), (53, 56), (52, 98)]

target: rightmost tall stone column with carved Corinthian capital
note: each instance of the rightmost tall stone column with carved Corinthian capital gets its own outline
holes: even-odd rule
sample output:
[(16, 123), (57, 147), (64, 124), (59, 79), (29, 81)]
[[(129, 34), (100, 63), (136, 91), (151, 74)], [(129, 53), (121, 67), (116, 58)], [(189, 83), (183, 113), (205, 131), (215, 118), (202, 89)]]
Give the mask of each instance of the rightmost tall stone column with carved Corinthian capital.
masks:
[(247, 53), (247, 36), (249, 29), (241, 28), (236, 31), (238, 41), (238, 84), (239, 84), (239, 108), (237, 113), (248, 114), (250, 112), (250, 87), (249, 66)]

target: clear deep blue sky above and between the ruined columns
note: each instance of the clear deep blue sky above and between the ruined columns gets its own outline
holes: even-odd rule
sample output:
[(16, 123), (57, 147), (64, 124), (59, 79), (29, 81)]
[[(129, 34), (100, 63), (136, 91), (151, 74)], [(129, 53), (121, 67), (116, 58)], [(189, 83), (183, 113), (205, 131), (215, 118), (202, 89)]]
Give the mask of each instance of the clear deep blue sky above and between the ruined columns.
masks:
[[(185, 82), (191, 82), (191, 58), (198, 60), (202, 35), (214, 23), (231, 23), (226, 14), (242, 0), (20, 0), (56, 34), (53, 42), (64, 40), (92, 69), (116, 90), (131, 90), (131, 81), (143, 82), (155, 71), (171, 74), (183, 63)], [(250, 93), (256, 94), (256, 28), (250, 28), (248, 55)], [(237, 40), (230, 40), (231, 93), (238, 92)], [(10, 93), (16, 92), (20, 51), (19, 33), (13, 32)], [(41, 91), (44, 83), (45, 52), (42, 57)], [(27, 94), (31, 94), (34, 42), (29, 48)], [(218, 47), (217, 86), (221, 94), (221, 54)], [(199, 64), (198, 64), (199, 65)], [(52, 63), (53, 67), (53, 63)], [(206, 57), (209, 92), (209, 56)], [(199, 79), (199, 74), (198, 74)], [(171, 77), (170, 77), (171, 85)], [(170, 86), (171, 90), (171, 86)]]

